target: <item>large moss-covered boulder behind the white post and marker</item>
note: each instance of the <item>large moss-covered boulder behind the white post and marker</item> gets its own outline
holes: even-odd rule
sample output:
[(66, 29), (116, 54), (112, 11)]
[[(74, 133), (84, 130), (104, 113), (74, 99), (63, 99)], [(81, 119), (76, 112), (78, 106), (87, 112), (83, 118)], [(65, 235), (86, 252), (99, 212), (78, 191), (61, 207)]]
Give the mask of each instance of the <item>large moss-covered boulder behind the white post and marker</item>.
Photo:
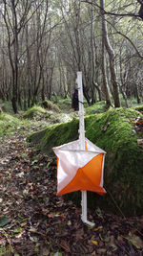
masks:
[[(137, 144), (141, 134), (134, 132), (132, 123), (138, 115), (143, 117), (134, 109), (111, 108), (85, 118), (86, 137), (107, 151), (104, 178), (107, 195), (98, 197), (89, 193), (92, 207), (98, 204), (117, 213), (119, 207), (126, 215), (143, 213), (143, 151)], [(72, 120), (34, 133), (29, 140), (38, 141), (42, 151), (51, 151), (52, 147), (77, 137), (78, 120)]]

